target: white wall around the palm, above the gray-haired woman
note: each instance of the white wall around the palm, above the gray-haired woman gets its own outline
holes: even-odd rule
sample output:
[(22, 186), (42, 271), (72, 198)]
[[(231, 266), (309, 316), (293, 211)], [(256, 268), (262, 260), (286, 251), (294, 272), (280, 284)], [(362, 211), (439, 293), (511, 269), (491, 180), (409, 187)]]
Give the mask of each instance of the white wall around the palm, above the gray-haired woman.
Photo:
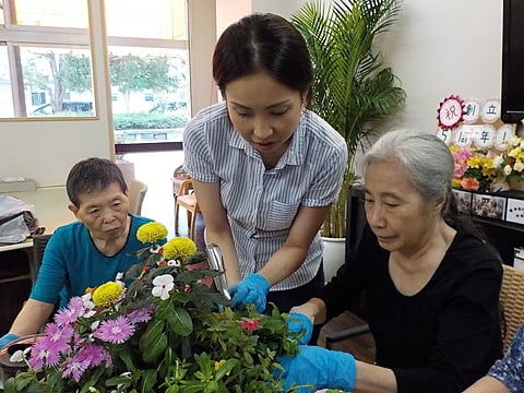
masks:
[[(284, 16), (305, 2), (252, 1), (253, 12)], [(501, 24), (501, 1), (404, 0), (398, 21), (379, 40), (385, 61), (407, 93), (404, 111), (388, 127), (434, 132), (437, 109), (444, 97), (500, 97)]]

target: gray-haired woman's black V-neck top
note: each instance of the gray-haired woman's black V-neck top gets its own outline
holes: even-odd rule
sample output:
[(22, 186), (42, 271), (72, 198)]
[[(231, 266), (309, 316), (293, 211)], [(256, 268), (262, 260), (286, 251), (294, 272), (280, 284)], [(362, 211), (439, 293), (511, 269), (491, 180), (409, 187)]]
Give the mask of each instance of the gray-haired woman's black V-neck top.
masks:
[(462, 392), (501, 357), (498, 258), (478, 238), (457, 233), (428, 284), (404, 296), (390, 277), (389, 255), (367, 226), (346, 265), (318, 294), (329, 318), (365, 290), (377, 365), (393, 369), (398, 393)]

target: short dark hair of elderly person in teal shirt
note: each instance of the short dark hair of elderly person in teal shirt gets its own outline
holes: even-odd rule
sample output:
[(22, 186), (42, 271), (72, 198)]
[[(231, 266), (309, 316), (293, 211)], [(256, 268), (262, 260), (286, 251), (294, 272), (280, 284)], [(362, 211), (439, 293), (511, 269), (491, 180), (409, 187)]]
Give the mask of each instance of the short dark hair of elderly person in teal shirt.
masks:
[(80, 207), (80, 194), (102, 191), (111, 183), (117, 183), (122, 192), (128, 189), (117, 164), (106, 158), (93, 157), (81, 160), (71, 168), (66, 189), (71, 203)]

